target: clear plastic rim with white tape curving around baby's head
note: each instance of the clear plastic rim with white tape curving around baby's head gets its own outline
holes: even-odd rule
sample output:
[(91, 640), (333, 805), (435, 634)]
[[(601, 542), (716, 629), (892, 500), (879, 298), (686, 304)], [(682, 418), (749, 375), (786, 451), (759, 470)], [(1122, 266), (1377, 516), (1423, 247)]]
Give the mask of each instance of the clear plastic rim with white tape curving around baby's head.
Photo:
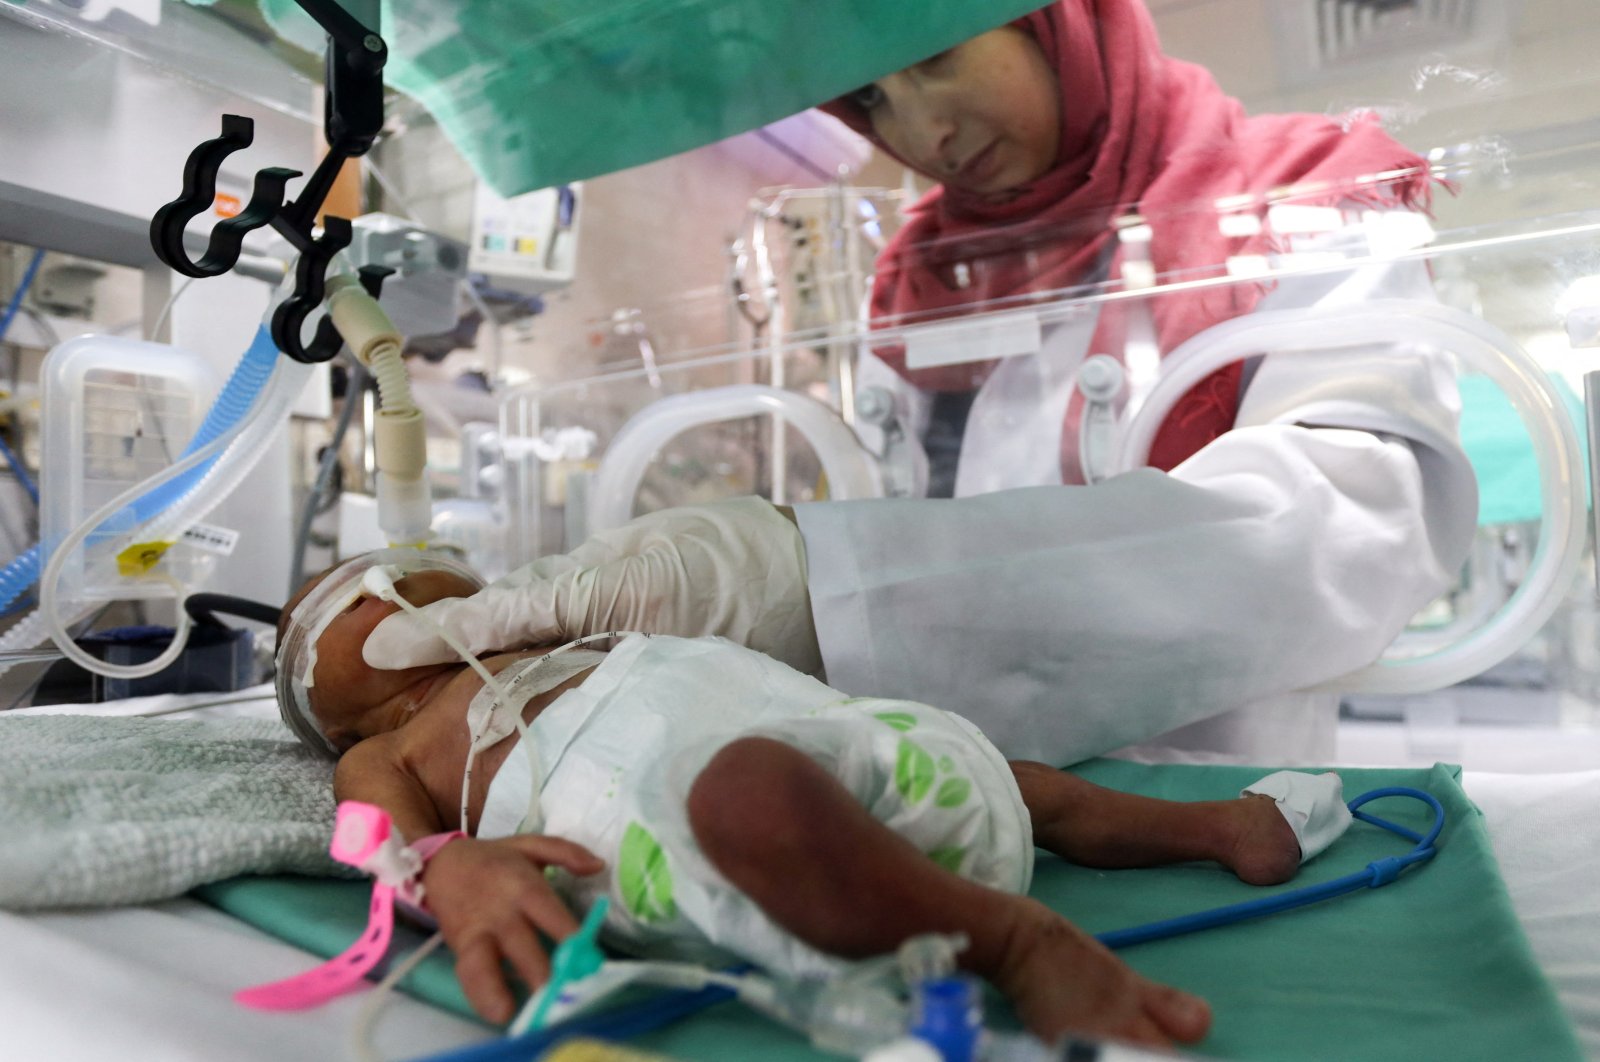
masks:
[(310, 710), (310, 694), (314, 672), (317, 667), (317, 641), (344, 609), (362, 597), (370, 597), (366, 587), (368, 573), (387, 569), (392, 579), (400, 574), (418, 571), (448, 571), (482, 589), (483, 579), (464, 563), (437, 550), (384, 549), (355, 557), (318, 582), (290, 613), (290, 622), (283, 629), (278, 643), (277, 673), (274, 686), (278, 697), (278, 712), (285, 725), (304, 744), (330, 758), (338, 758), (339, 750), (322, 733), (317, 717)]

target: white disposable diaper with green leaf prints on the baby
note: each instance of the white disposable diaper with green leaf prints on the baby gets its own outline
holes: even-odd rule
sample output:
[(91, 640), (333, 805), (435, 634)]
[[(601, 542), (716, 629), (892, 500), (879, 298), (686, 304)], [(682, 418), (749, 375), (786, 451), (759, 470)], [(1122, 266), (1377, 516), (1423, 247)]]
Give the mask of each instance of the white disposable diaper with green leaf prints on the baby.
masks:
[[(606, 940), (645, 955), (754, 961), (782, 974), (834, 972), (840, 960), (776, 926), (699, 851), (688, 793), (739, 737), (810, 755), (891, 830), (962, 876), (1026, 892), (1034, 873), (1027, 808), (1000, 752), (966, 720), (907, 701), (838, 691), (722, 638), (627, 638), (582, 686), (530, 726), (546, 832), (606, 860), (558, 888), (587, 910), (611, 897)], [(506, 758), (478, 836), (514, 833), (528, 765)]]

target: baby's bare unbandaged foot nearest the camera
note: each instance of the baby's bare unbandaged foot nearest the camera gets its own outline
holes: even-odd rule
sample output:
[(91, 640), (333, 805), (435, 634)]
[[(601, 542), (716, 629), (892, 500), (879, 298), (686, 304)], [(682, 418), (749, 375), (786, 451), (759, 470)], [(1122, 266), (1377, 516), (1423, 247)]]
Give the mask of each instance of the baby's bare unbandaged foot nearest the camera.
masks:
[(995, 985), (1035, 1036), (1110, 1036), (1170, 1048), (1211, 1027), (1205, 1000), (1133, 972), (1099, 940), (1034, 900), (1008, 942)]

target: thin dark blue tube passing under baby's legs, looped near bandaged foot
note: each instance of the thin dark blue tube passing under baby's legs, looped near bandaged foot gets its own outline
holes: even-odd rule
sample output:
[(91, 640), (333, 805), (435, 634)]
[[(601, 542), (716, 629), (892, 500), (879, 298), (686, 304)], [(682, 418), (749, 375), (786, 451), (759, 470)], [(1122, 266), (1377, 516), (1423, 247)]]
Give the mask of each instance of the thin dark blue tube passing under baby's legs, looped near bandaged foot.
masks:
[[(1421, 800), (1434, 809), (1432, 827), (1429, 827), (1424, 835), (1360, 809), (1363, 804), (1384, 796), (1411, 796), (1414, 800)], [(1334, 878), (1333, 881), (1326, 881), (1323, 884), (1309, 884), (1302, 889), (1278, 892), (1277, 896), (1250, 900), (1246, 904), (1216, 907), (1213, 910), (1186, 915), (1182, 918), (1168, 918), (1165, 921), (1152, 921), (1130, 929), (1101, 932), (1096, 934), (1094, 939), (1109, 948), (1125, 948), (1147, 940), (1162, 940), (1165, 937), (1176, 937), (1186, 932), (1198, 932), (1200, 929), (1214, 929), (1235, 921), (1245, 921), (1246, 918), (1275, 915), (1278, 912), (1293, 910), (1294, 907), (1317, 904), (1344, 892), (1354, 892), (1360, 888), (1376, 889), (1397, 880), (1406, 867), (1432, 859), (1438, 851), (1434, 848), (1434, 841), (1438, 840), (1440, 830), (1445, 828), (1445, 808), (1432, 793), (1405, 785), (1389, 785), (1362, 793), (1346, 806), (1350, 809), (1350, 814), (1362, 822), (1370, 822), (1389, 830), (1390, 833), (1398, 833), (1400, 836), (1414, 841), (1416, 848), (1405, 856), (1374, 859), (1366, 864), (1363, 870), (1349, 873), (1342, 878)], [(669, 1025), (680, 1017), (688, 1017), (690, 1014), (704, 1011), (709, 1006), (725, 1003), (726, 1000), (731, 1000), (733, 995), (734, 993), (730, 988), (717, 985), (698, 990), (666, 990), (648, 1000), (627, 1003), (602, 1014), (586, 1014), (546, 1028), (523, 1033), (520, 1036), (490, 1040), (470, 1048), (434, 1054), (422, 1062), (523, 1062), (525, 1059), (538, 1057), (546, 1049), (571, 1036), (629, 1040), (632, 1036), (661, 1028), (662, 1025)]]

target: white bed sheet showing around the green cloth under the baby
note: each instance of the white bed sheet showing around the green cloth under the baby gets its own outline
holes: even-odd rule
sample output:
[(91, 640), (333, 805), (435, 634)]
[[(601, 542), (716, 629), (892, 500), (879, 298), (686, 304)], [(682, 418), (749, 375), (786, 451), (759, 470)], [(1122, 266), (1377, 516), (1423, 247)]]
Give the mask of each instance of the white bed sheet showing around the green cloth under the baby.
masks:
[[(270, 688), (227, 704), (142, 697), (118, 715), (274, 715)], [(197, 707), (200, 705), (200, 707)], [(46, 713), (70, 705), (30, 709)], [(1584, 1051), (1600, 1062), (1600, 771), (1464, 774), (1541, 968)], [(360, 996), (318, 1011), (259, 1014), (237, 988), (306, 969), (310, 958), (190, 899), (93, 912), (0, 912), (0, 1062), (355, 1059)], [(378, 1024), (387, 1059), (482, 1041), (482, 1025), (395, 996)]]

